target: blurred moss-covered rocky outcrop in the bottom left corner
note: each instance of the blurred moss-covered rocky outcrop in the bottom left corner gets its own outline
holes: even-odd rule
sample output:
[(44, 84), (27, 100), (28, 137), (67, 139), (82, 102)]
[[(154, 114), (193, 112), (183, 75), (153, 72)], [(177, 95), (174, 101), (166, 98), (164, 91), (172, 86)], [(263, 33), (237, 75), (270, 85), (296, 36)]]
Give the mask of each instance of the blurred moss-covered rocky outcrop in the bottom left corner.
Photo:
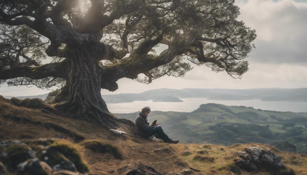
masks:
[(0, 174), (88, 175), (78, 151), (51, 139), (0, 142)]

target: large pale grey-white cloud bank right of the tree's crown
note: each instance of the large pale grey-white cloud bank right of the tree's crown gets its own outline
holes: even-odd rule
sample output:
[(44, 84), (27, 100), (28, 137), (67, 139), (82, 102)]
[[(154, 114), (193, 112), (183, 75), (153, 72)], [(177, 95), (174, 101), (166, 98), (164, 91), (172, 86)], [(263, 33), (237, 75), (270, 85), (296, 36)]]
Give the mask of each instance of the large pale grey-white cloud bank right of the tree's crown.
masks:
[(256, 50), (247, 60), (266, 63), (307, 63), (307, 2), (238, 0), (243, 20), (256, 30)]

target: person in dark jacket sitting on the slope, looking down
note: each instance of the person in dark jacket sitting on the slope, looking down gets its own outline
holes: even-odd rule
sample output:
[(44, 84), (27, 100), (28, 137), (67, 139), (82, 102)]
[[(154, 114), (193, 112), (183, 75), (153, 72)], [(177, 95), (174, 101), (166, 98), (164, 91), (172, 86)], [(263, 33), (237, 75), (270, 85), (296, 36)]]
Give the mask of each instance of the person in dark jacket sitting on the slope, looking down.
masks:
[(179, 140), (170, 139), (163, 131), (160, 124), (155, 124), (154, 126), (149, 125), (147, 116), (150, 113), (150, 107), (144, 107), (135, 119), (135, 128), (139, 136), (148, 138), (150, 136), (155, 136), (158, 139), (162, 139), (165, 143), (178, 143)]

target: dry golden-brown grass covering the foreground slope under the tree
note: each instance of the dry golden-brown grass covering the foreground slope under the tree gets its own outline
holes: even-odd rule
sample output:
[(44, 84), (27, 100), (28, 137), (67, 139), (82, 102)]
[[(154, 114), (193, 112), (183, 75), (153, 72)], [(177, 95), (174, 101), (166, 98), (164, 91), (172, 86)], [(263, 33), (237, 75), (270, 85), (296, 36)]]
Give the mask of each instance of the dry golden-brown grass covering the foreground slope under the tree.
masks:
[[(161, 174), (170, 171), (182, 172), (188, 167), (200, 170), (200, 173), (195, 174), (235, 174), (232, 165), (235, 158), (239, 159), (236, 153), (249, 146), (269, 149), (282, 156), (287, 168), (293, 169), (298, 175), (307, 175), (306, 155), (281, 152), (266, 144), (234, 144), (229, 147), (212, 144), (170, 145), (135, 136), (128, 125), (122, 125), (118, 129), (126, 131), (127, 134), (119, 136), (100, 125), (74, 119), (73, 116), (48, 114), (38, 109), (17, 107), (0, 101), (0, 140), (60, 138), (60, 142), (76, 148), (91, 172), (98, 175), (122, 174), (129, 167), (140, 164), (151, 166)], [(106, 145), (109, 146), (106, 148)], [(153, 152), (163, 147), (171, 147), (174, 151), (170, 154)], [(115, 156), (115, 150), (120, 158)], [(185, 151), (192, 154), (182, 155)], [(200, 154), (197, 151), (200, 151)], [(197, 155), (212, 158), (214, 161), (193, 160)]]

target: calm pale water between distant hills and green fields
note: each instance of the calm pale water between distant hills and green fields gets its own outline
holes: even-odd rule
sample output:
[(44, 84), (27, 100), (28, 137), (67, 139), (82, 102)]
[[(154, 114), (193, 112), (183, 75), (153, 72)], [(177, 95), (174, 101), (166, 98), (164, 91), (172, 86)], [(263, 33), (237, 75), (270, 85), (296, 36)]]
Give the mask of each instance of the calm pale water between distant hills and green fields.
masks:
[(180, 98), (183, 102), (152, 102), (134, 101), (124, 103), (107, 103), (112, 113), (133, 113), (140, 111), (144, 106), (150, 106), (151, 110), (192, 112), (201, 104), (217, 103), (227, 106), (246, 106), (262, 110), (307, 112), (307, 102), (293, 101), (261, 101), (253, 100), (208, 100), (207, 98)]

